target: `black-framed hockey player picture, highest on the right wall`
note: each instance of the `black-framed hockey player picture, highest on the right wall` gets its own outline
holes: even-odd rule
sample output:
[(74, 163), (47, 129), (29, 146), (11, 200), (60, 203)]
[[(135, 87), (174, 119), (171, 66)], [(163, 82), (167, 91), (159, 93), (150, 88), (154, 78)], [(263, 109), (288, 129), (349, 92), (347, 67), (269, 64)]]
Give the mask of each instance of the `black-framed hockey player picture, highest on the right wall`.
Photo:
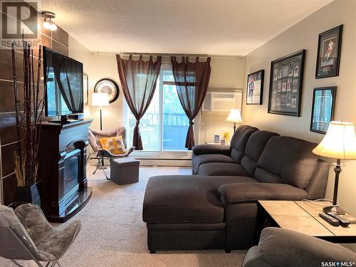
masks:
[(315, 78), (339, 75), (342, 25), (319, 34)]

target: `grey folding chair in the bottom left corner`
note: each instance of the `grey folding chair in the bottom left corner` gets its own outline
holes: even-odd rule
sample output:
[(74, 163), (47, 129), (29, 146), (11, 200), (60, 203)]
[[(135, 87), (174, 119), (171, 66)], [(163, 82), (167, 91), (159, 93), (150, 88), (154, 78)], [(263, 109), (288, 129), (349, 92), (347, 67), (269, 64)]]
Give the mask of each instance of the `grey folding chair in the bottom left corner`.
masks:
[(17, 266), (17, 260), (46, 261), (46, 266), (61, 266), (59, 259), (66, 253), (80, 231), (80, 221), (56, 229), (46, 220), (39, 206), (23, 204), (15, 211), (0, 205), (0, 256)]

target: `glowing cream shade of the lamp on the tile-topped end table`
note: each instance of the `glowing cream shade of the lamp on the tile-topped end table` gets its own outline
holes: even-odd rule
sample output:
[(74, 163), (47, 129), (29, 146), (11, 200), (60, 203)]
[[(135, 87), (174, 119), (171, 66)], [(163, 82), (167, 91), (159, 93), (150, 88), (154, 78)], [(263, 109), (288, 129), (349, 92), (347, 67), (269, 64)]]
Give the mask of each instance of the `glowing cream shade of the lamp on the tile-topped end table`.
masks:
[(328, 132), (313, 153), (334, 159), (356, 159), (354, 123), (330, 122)]

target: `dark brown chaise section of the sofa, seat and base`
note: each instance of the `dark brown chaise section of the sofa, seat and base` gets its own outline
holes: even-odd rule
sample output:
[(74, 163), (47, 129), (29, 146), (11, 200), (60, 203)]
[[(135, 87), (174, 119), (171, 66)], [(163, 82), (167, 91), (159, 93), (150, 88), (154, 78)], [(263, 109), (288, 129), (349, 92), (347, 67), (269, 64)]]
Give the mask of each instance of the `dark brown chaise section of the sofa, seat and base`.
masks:
[(251, 177), (158, 176), (147, 183), (143, 221), (147, 244), (157, 250), (225, 249), (221, 184), (256, 182)]

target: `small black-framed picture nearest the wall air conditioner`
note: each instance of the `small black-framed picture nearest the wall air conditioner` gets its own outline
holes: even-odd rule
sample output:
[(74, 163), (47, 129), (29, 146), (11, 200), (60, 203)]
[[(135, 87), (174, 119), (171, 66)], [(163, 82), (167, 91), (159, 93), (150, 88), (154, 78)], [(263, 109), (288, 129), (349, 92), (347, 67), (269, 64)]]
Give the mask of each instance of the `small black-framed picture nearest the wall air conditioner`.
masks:
[(262, 105), (263, 78), (265, 70), (247, 75), (246, 105)]

